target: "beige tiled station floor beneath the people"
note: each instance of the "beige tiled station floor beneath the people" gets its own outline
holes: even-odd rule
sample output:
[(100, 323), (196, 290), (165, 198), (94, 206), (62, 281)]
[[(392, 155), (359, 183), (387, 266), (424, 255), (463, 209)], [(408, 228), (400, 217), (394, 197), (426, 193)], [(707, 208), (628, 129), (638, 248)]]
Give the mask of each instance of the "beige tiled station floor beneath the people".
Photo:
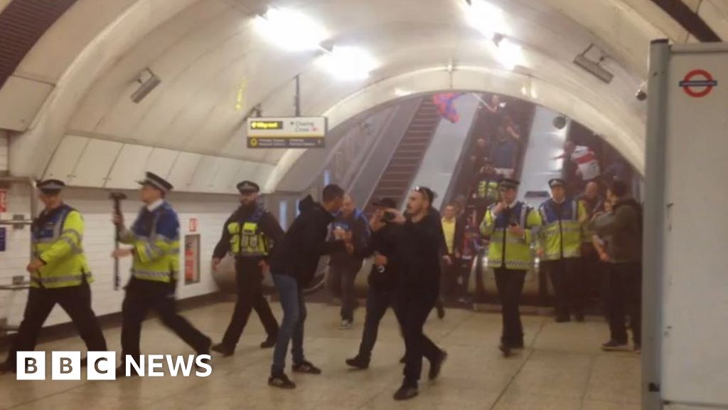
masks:
[[(232, 306), (218, 303), (183, 315), (219, 341)], [(280, 318), (280, 306), (273, 309)], [(599, 345), (608, 331), (598, 317), (558, 324), (549, 317), (524, 316), (528, 347), (506, 359), (496, 349), (499, 314), (449, 309), (444, 320), (432, 314), (426, 333), (448, 351), (448, 361), (440, 379), (421, 382), (419, 397), (400, 403), (392, 394), (401, 382), (398, 360), (404, 348), (391, 312), (382, 322), (371, 368), (352, 371), (344, 364), (357, 352), (363, 315), (363, 309), (357, 310), (355, 327), (339, 330), (336, 306), (309, 303), (306, 356), (323, 369), (323, 375), (292, 375), (296, 390), (268, 387), (272, 351), (259, 349), (264, 331), (253, 314), (236, 354), (213, 356), (213, 374), (207, 378), (31, 382), (6, 374), (0, 376), (0, 409), (639, 409), (639, 357), (631, 352), (601, 352)], [(109, 348), (118, 352), (119, 328), (104, 333)], [(78, 338), (38, 347), (82, 348)], [(142, 351), (189, 354), (186, 345), (156, 319), (144, 323)]]

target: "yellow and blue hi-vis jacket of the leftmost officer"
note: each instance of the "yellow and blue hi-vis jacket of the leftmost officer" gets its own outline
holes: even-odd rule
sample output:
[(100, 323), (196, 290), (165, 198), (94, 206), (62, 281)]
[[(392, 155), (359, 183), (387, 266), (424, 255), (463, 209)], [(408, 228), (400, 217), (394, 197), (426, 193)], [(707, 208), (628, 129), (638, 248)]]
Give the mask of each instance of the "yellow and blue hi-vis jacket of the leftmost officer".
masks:
[(84, 220), (76, 209), (66, 204), (52, 211), (44, 210), (33, 223), (33, 256), (45, 265), (31, 274), (31, 287), (79, 286), (92, 282), (83, 250)]

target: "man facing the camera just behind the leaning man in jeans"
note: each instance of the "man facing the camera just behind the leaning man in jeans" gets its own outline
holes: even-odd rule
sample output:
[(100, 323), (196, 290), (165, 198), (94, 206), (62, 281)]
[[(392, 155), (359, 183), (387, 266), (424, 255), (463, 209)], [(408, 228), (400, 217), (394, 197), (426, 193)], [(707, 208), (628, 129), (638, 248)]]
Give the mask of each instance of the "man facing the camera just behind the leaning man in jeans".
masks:
[(352, 328), (354, 309), (357, 305), (354, 281), (362, 268), (364, 252), (369, 242), (369, 228), (365, 217), (356, 208), (351, 196), (344, 196), (344, 205), (331, 223), (330, 239), (348, 237), (354, 246), (354, 253), (331, 255), (328, 266), (328, 287), (335, 297), (341, 298), (340, 329)]

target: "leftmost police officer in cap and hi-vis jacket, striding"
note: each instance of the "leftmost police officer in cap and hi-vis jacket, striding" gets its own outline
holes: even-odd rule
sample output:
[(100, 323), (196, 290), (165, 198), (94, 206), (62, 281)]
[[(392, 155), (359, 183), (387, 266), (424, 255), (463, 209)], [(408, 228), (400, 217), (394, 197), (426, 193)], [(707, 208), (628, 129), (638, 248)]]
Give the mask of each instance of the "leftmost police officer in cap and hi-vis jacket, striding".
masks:
[(26, 268), (31, 274), (31, 288), (23, 322), (7, 359), (0, 364), (0, 373), (15, 371), (17, 352), (35, 349), (43, 323), (56, 303), (71, 317), (90, 352), (106, 350), (106, 340), (91, 309), (89, 284), (93, 277), (82, 244), (84, 220), (80, 212), (63, 203), (60, 192), (65, 186), (57, 179), (37, 184), (45, 209), (31, 226), (33, 259)]

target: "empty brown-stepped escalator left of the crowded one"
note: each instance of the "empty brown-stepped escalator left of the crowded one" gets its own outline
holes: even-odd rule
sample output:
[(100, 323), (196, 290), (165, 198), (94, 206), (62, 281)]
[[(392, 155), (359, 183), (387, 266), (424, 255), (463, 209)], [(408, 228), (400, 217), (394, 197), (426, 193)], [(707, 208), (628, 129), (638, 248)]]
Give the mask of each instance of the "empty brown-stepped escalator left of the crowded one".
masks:
[(438, 124), (440, 124), (440, 115), (435, 104), (432, 104), (432, 98), (422, 98), (412, 122), (405, 131), (405, 136), (397, 146), (392, 159), (389, 160), (384, 173), (381, 174), (371, 198), (367, 201), (365, 213), (373, 212), (371, 209), (373, 198), (386, 196), (393, 198), (398, 206), (403, 203)]

